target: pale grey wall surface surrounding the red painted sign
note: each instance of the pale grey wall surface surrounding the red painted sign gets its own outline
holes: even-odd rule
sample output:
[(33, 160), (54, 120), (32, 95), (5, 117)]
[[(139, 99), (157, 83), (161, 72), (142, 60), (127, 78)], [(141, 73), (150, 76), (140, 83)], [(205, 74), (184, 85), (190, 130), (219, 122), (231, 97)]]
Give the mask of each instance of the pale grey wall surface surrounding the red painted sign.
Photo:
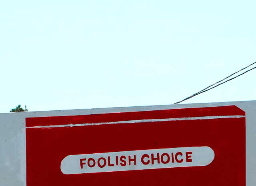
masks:
[(74, 116), (236, 105), (246, 112), (246, 185), (256, 185), (256, 101), (0, 114), (0, 185), (26, 186), (26, 117)]

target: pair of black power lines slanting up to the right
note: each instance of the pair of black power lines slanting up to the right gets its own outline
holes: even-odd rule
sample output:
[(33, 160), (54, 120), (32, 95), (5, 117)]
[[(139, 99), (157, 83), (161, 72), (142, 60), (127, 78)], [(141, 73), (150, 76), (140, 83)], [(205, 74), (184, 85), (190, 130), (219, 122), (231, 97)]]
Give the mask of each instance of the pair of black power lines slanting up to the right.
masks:
[[(226, 82), (228, 82), (228, 81), (230, 81), (230, 80), (233, 80), (234, 78), (237, 78), (237, 77), (239, 77), (239, 76), (241, 76), (241, 75), (243, 75), (243, 74), (245, 74), (245, 73), (247, 73), (247, 72), (249, 72), (249, 71), (251, 71), (251, 70), (253, 70), (253, 69), (256, 69), (256, 67), (254, 67), (254, 68), (252, 68), (252, 69), (250, 69), (250, 70), (247, 70), (246, 72), (243, 72), (242, 74), (239, 74), (238, 76), (235, 76), (234, 78), (230, 78), (230, 79), (228, 79), (228, 80), (222, 82), (223, 80), (225, 80), (225, 79), (229, 78), (230, 76), (233, 76), (234, 74), (236, 74), (236, 73), (238, 73), (238, 72), (240, 72), (240, 71), (242, 71), (242, 70), (244, 70), (244, 69), (246, 69), (246, 68), (248, 68), (248, 67), (254, 65), (255, 63), (256, 63), (256, 62), (254, 62), (254, 63), (248, 65), (247, 67), (244, 67), (244, 68), (241, 69), (241, 70), (238, 70), (237, 72), (234, 72), (233, 74), (227, 76), (226, 78), (224, 78), (224, 79), (222, 79), (222, 80), (220, 80), (220, 81), (218, 81), (218, 82), (216, 82), (216, 83), (214, 83), (214, 84), (212, 84), (212, 85), (210, 85), (210, 86), (204, 88), (203, 90), (200, 90), (199, 92), (196, 92), (195, 94), (193, 94), (193, 95), (191, 95), (191, 96), (185, 98), (184, 100), (181, 100), (181, 101), (176, 102), (176, 103), (174, 103), (174, 104), (178, 104), (178, 103), (183, 102), (183, 101), (185, 101), (185, 100), (188, 100), (188, 99), (190, 99), (190, 98), (192, 98), (192, 97), (194, 97), (194, 96), (197, 96), (198, 94), (202, 94), (203, 92), (207, 92), (208, 90), (211, 90), (212, 88), (215, 88), (215, 87), (217, 87), (217, 86), (220, 86), (221, 84), (224, 84), (224, 83), (226, 83)], [(219, 82), (222, 82), (222, 83), (218, 84)], [(217, 85), (216, 85), (216, 84), (217, 84)], [(214, 86), (214, 85), (216, 85), (216, 86)], [(213, 87), (210, 88), (211, 86), (213, 86)]]

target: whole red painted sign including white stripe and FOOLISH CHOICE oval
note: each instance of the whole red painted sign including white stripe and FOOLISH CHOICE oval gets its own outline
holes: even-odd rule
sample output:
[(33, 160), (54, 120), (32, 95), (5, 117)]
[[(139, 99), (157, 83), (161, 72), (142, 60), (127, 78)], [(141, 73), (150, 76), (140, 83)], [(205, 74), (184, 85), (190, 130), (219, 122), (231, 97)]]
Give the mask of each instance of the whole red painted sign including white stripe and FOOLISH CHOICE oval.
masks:
[(27, 186), (245, 186), (236, 106), (26, 118)]

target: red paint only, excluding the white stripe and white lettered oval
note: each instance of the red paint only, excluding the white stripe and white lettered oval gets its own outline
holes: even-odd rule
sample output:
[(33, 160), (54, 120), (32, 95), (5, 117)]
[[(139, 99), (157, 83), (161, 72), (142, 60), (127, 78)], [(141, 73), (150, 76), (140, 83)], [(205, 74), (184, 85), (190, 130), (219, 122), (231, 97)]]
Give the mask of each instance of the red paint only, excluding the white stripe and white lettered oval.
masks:
[[(26, 118), (26, 127), (236, 116), (236, 106)], [(27, 186), (245, 186), (245, 117), (26, 129)], [(68, 155), (208, 146), (207, 166), (63, 174)]]

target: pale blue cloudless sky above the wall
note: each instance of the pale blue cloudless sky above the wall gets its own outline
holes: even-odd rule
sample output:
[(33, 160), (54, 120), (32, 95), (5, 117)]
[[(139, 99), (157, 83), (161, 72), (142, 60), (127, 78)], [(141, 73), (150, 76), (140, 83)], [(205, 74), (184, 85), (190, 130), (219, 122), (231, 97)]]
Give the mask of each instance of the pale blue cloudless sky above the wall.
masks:
[[(6, 0), (0, 112), (173, 104), (256, 61), (256, 1)], [(256, 100), (256, 70), (185, 103)]]

